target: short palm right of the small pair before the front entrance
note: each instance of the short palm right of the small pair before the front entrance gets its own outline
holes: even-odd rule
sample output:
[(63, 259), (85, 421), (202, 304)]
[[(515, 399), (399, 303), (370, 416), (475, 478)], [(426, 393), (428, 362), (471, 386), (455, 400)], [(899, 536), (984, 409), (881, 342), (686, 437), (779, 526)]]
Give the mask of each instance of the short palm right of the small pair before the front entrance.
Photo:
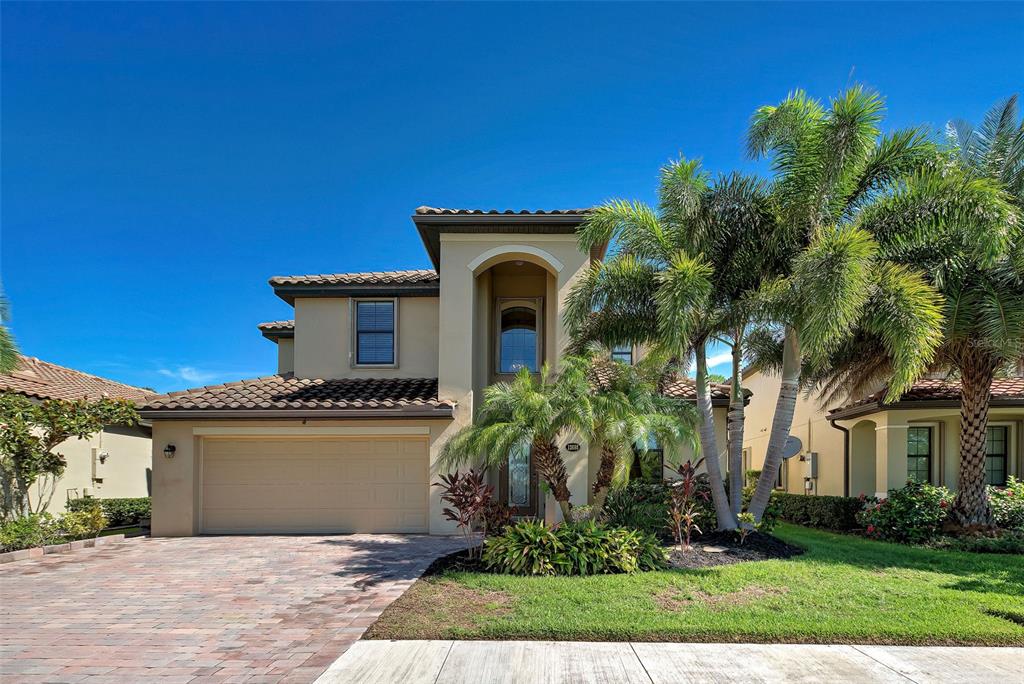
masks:
[(695, 446), (698, 422), (692, 405), (662, 392), (674, 375), (664, 357), (648, 354), (630, 365), (601, 351), (592, 349), (589, 355), (593, 439), (601, 447), (593, 517), (601, 514), (612, 485), (629, 479), (634, 458), (642, 458), (652, 439), (663, 448), (683, 442)]

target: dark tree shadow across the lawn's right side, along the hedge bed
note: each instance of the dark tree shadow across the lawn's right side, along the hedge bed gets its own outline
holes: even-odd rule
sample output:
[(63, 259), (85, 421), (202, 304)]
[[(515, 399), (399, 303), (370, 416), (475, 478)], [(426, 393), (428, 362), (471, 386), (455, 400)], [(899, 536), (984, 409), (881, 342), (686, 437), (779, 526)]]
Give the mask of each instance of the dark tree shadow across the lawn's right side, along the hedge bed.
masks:
[(782, 538), (807, 550), (787, 562), (849, 565), (876, 572), (909, 569), (952, 574), (957, 581), (943, 589), (1024, 596), (1024, 557), (1004, 554), (942, 551), (864, 540), (852, 535), (810, 530), (816, 539), (782, 531)]

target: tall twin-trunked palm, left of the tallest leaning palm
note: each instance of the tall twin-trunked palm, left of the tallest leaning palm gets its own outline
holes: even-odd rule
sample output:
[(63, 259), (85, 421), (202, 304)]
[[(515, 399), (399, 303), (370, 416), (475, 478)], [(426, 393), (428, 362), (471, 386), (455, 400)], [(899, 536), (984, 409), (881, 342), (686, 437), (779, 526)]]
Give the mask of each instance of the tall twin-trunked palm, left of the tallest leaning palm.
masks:
[[(752, 309), (744, 296), (779, 267), (766, 237), (774, 229), (765, 184), (737, 174), (712, 183), (699, 162), (662, 169), (659, 206), (609, 202), (580, 230), (580, 245), (614, 240), (616, 254), (596, 264), (569, 297), (566, 323), (578, 340), (650, 344), (677, 358), (693, 354), (700, 444), (718, 526), (736, 526), (742, 489), (742, 345)], [(707, 346), (733, 348), (728, 454), (730, 486), (722, 481), (709, 391)]]

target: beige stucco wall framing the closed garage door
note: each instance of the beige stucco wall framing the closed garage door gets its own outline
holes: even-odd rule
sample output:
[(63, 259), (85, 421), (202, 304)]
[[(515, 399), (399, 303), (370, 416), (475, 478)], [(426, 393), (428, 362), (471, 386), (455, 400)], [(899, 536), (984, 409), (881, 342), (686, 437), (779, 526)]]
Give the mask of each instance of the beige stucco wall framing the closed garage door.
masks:
[[(324, 429), (342, 428), (365, 433), (387, 433), (389, 429), (420, 428), (430, 442), (430, 482), (437, 481), (436, 459), (442, 437), (447, 434), (449, 420), (345, 420), (345, 421), (154, 421), (153, 424), (153, 535), (155, 537), (189, 537), (202, 529), (202, 473), (203, 440), (195, 430), (203, 428), (229, 428), (245, 432), (257, 429), (271, 434), (274, 428), (285, 428), (296, 439), (315, 438)], [(269, 432), (268, 432), (269, 431)], [(218, 438), (222, 438), (218, 435)], [(260, 435), (240, 435), (240, 438), (259, 439)], [(164, 447), (174, 444), (173, 459), (164, 456)], [(430, 533), (454, 535), (455, 524), (445, 520), (437, 487), (429, 487)]]

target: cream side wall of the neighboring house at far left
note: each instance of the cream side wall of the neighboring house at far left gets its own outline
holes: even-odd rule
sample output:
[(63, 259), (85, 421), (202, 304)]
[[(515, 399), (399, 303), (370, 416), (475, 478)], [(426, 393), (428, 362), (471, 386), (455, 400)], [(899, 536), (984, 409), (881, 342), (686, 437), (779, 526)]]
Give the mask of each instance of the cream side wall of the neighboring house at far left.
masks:
[[(38, 503), (52, 488), (46, 509), (50, 513), (63, 512), (69, 498), (85, 495), (97, 499), (150, 496), (152, 450), (146, 428), (110, 426), (88, 439), (63, 441), (55, 451), (68, 462), (63, 475), (55, 487), (48, 480), (37, 483), (33, 495), (33, 502)], [(108, 455), (105, 463), (99, 462), (101, 453)]]

